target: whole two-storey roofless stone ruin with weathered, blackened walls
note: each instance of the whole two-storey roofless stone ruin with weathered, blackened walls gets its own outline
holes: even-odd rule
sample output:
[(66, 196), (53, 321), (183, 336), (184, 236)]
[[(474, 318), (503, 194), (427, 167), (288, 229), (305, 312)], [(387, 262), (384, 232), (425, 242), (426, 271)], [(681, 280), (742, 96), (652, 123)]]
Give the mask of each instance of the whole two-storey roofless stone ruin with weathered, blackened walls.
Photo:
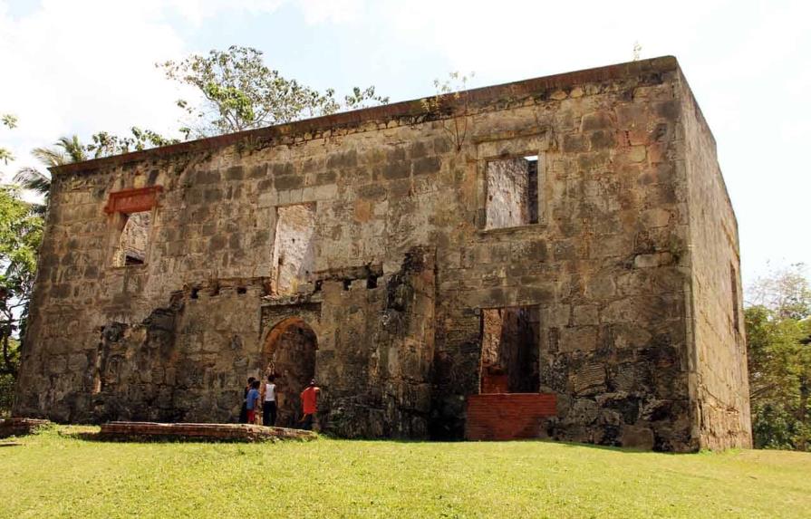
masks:
[(738, 231), (672, 57), (53, 168), (14, 413), (751, 443)]

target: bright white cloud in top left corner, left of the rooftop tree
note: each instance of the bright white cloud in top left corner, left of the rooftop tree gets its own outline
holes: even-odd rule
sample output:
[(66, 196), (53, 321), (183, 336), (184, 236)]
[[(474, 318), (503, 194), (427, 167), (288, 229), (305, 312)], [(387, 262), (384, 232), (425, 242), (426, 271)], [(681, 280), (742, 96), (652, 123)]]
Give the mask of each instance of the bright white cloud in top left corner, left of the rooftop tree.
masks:
[(19, 127), (9, 134), (17, 163), (27, 150), (61, 135), (95, 130), (126, 132), (131, 125), (166, 131), (178, 97), (154, 62), (184, 52), (156, 2), (123, 10), (112, 2), (46, 0), (33, 13), (11, 19), (0, 2), (0, 111)]

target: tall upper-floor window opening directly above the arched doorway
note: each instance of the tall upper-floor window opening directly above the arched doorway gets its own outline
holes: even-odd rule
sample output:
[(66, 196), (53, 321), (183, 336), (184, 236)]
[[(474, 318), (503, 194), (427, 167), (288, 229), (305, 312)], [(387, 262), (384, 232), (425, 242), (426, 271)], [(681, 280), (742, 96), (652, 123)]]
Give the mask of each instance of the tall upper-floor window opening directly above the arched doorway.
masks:
[(272, 293), (297, 293), (313, 281), (315, 267), (315, 204), (276, 208)]

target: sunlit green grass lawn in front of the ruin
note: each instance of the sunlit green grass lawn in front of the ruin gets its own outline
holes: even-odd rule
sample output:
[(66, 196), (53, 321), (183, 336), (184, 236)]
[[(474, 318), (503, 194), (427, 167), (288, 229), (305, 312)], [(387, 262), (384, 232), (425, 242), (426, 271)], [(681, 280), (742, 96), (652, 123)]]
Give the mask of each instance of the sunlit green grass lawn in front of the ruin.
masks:
[(0, 517), (811, 517), (811, 455), (548, 442), (0, 447)]

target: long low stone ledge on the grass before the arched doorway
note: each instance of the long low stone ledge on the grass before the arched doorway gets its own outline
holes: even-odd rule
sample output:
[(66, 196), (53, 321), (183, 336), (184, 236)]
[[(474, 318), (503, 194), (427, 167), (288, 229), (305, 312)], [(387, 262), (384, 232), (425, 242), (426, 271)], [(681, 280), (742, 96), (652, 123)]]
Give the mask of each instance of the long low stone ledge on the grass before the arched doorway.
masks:
[(208, 439), (213, 441), (273, 441), (276, 439), (312, 440), (312, 431), (290, 428), (271, 428), (247, 424), (196, 424), (157, 422), (109, 422), (101, 425), (99, 439), (137, 440), (154, 439)]

